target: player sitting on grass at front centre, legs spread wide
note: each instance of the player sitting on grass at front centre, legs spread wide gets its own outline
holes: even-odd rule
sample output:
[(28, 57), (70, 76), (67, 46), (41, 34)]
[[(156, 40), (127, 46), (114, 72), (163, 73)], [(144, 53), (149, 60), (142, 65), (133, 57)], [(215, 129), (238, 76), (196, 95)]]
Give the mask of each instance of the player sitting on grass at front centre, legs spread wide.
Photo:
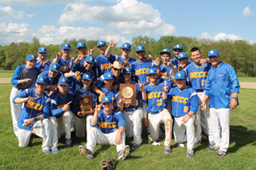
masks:
[[(112, 109), (111, 97), (106, 96), (102, 99), (101, 105), (96, 105), (94, 116), (91, 119), (91, 129), (87, 131), (86, 146), (79, 146), (79, 152), (86, 158), (94, 158), (94, 147), (96, 143), (101, 145), (117, 146), (117, 157), (124, 160), (130, 154), (130, 147), (125, 146), (126, 122), (122, 112)], [(99, 128), (96, 127), (100, 124)], [(119, 126), (118, 126), (119, 123)]]

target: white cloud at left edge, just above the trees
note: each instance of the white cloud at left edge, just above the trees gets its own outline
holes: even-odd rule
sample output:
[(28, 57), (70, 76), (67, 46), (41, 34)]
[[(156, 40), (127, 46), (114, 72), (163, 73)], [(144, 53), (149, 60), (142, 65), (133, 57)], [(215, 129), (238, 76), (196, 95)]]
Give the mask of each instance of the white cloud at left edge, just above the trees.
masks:
[(31, 31), (28, 29), (29, 24), (22, 23), (0, 23), (0, 44), (11, 44), (12, 42), (25, 42), (32, 39)]

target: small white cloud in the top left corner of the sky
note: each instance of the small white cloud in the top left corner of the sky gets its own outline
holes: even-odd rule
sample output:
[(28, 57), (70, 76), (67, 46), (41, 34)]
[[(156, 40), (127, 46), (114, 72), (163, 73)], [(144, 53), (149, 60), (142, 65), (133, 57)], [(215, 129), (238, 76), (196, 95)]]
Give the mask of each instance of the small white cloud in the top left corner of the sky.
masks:
[(29, 17), (29, 18), (31, 18), (33, 16), (33, 14), (32, 15), (31, 14), (25, 14), (25, 12), (22, 12), (22, 11), (16, 12), (10, 6), (2, 7), (0, 5), (0, 19), (1, 18), (23, 19), (24, 15)]

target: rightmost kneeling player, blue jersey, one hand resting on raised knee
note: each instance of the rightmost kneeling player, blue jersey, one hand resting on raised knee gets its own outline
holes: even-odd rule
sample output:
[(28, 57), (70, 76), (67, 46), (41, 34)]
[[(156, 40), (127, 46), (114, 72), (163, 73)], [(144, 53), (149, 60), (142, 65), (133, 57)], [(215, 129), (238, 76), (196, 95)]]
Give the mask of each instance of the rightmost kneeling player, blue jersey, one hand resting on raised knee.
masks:
[[(199, 101), (197, 93), (193, 88), (186, 85), (186, 73), (184, 71), (175, 74), (177, 87), (172, 88), (167, 94), (164, 92), (162, 99), (172, 99), (173, 106), (173, 135), (177, 143), (187, 141), (187, 157), (194, 156), (195, 140), (195, 113), (197, 112)], [(166, 89), (164, 89), (167, 91)], [(168, 100), (167, 99), (167, 100)], [(186, 135), (185, 135), (186, 131)]]

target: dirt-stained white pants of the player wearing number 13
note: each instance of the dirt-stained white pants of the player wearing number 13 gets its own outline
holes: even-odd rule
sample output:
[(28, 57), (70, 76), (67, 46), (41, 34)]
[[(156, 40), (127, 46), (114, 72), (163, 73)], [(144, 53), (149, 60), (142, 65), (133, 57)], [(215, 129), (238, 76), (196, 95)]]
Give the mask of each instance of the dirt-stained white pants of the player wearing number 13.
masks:
[(150, 124), (150, 135), (154, 141), (159, 137), (159, 126), (161, 122), (165, 123), (165, 146), (171, 146), (171, 131), (173, 128), (173, 119), (167, 109), (163, 109), (159, 114), (148, 114)]

